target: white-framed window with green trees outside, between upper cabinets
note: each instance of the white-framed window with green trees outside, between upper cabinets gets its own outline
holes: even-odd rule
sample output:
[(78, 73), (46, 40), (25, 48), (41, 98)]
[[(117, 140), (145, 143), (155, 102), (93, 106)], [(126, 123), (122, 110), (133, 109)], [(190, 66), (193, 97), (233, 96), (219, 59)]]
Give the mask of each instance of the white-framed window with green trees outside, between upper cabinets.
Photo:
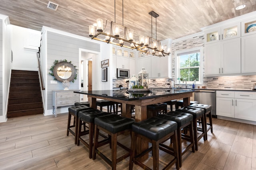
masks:
[[(202, 48), (193, 48), (184, 51), (177, 51), (176, 57), (176, 84), (184, 81), (192, 84), (202, 82)], [(201, 65), (201, 66), (200, 66)]]

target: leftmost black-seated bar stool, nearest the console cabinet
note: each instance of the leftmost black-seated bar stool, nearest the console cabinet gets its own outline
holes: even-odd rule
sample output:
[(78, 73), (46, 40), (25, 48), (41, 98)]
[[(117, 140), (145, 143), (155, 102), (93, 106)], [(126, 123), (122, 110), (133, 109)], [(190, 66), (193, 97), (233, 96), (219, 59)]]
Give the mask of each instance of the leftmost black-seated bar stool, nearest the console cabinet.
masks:
[[(69, 132), (74, 135), (75, 137), (75, 144), (77, 144), (78, 139), (78, 112), (83, 110), (90, 110), (91, 107), (81, 105), (81, 106), (72, 106), (68, 108), (68, 128), (67, 128), (67, 136), (69, 135)], [(70, 125), (71, 116), (74, 116), (74, 124)], [(70, 129), (71, 127), (75, 127), (75, 131), (72, 131)]]

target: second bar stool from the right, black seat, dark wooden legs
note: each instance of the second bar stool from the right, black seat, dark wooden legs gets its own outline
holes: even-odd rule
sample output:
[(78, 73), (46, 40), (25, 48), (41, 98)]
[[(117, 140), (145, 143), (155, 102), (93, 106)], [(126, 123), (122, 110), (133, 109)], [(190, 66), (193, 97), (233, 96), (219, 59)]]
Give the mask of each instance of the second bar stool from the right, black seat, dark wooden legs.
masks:
[[(205, 137), (205, 126), (204, 126), (204, 109), (196, 108), (196, 107), (182, 107), (181, 109), (177, 109), (176, 111), (190, 113), (193, 115), (193, 132), (194, 132), (194, 142), (195, 142), (195, 149), (198, 150), (198, 141), (203, 137), (204, 141), (206, 140)], [(197, 120), (202, 122), (202, 128), (197, 127)], [(197, 131), (202, 132), (199, 136)]]

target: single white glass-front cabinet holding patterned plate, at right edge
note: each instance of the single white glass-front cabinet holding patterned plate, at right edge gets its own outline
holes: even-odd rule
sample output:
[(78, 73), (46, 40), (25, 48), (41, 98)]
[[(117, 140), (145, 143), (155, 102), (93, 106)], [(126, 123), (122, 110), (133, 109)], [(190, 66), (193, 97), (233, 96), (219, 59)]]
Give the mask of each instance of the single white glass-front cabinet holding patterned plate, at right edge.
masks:
[(251, 35), (256, 33), (256, 18), (241, 22), (241, 35)]

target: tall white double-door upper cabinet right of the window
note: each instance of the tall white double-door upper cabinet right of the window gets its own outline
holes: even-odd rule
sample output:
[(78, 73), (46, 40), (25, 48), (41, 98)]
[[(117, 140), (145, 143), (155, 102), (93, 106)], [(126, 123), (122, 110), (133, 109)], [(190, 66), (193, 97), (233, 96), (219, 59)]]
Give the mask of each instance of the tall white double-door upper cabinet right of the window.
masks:
[(240, 38), (207, 44), (205, 54), (206, 76), (241, 73)]

